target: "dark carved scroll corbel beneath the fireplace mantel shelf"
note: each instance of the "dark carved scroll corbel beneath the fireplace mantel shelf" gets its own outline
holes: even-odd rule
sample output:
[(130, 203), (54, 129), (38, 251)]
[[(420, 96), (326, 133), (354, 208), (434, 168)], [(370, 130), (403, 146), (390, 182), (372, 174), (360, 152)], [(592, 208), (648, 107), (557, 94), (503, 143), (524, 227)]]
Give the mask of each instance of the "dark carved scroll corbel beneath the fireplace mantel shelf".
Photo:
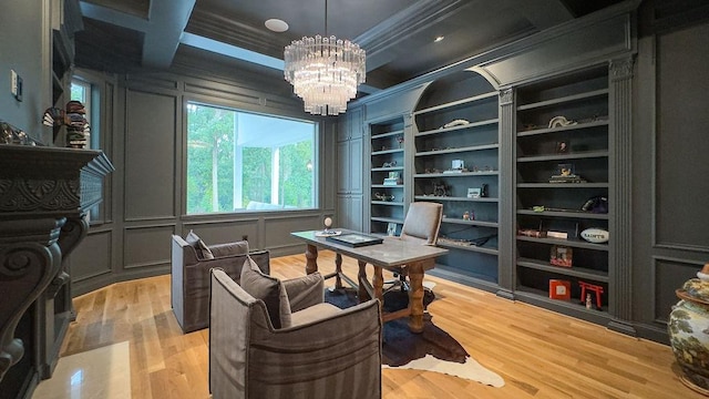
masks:
[(24, 355), (23, 342), (14, 338), (20, 318), (61, 267), (56, 239), (64, 222), (0, 222), (0, 380)]

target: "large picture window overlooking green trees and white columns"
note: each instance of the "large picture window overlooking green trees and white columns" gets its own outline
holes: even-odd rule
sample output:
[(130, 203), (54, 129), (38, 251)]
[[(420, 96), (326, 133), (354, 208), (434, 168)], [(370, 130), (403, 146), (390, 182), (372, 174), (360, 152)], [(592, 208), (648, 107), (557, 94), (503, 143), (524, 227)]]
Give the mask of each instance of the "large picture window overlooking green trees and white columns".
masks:
[(317, 124), (187, 103), (187, 214), (316, 207)]

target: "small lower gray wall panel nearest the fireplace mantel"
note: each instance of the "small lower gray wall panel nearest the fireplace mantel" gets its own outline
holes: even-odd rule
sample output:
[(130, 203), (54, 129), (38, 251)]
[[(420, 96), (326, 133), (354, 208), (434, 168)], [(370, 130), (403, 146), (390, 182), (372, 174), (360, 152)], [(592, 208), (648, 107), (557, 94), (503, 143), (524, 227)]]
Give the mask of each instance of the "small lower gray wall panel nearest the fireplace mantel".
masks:
[(74, 282), (112, 272), (113, 232), (91, 233), (71, 253), (71, 274)]

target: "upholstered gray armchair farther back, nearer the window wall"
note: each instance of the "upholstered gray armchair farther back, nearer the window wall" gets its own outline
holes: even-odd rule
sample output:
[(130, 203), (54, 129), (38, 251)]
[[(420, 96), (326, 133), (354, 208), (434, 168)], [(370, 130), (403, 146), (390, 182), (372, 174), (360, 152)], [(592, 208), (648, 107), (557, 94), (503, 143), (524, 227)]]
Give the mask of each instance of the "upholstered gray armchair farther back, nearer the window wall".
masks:
[(209, 327), (209, 270), (219, 267), (238, 282), (247, 255), (270, 273), (268, 250), (249, 252), (246, 241), (207, 246), (192, 232), (186, 239), (173, 235), (171, 301), (183, 332)]

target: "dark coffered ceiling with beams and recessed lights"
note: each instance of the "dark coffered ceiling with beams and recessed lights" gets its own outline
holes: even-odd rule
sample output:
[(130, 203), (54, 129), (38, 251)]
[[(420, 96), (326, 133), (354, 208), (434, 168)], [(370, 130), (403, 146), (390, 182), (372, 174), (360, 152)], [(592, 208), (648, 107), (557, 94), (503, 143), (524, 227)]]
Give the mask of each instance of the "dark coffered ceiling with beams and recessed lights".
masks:
[[(619, 2), (327, 0), (326, 14), (326, 0), (80, 0), (76, 65), (162, 70), (183, 54), (282, 76), (284, 48), (327, 28), (367, 51), (366, 94)], [(268, 30), (271, 18), (289, 29)]]

